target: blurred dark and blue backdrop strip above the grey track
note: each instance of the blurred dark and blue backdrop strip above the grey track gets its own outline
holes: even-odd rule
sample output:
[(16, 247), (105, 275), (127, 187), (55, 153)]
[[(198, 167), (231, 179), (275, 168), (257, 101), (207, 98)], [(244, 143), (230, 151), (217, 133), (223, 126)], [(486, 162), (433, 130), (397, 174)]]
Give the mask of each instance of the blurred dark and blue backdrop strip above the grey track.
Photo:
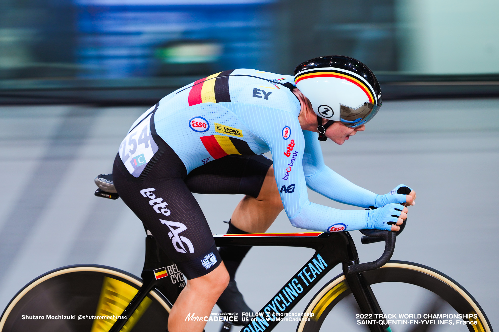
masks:
[(332, 54), (367, 64), (385, 100), (490, 96), (498, 13), (495, 0), (1, 0), (0, 102), (154, 104), (203, 75), (292, 74)]

